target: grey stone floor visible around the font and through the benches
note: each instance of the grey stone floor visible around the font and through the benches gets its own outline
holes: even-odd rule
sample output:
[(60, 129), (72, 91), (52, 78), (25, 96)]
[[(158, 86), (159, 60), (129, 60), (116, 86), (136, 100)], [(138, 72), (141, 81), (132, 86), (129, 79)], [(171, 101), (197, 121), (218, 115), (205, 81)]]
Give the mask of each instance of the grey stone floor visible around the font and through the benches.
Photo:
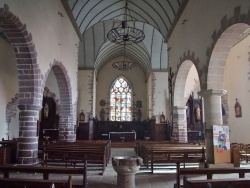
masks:
[[(135, 155), (132, 148), (112, 148), (112, 156), (131, 156)], [(241, 166), (247, 166), (248, 164), (242, 163)], [(112, 162), (110, 160), (108, 167), (106, 168), (103, 175), (99, 175), (100, 171), (88, 171), (88, 187), (89, 188), (119, 188), (116, 185), (117, 174), (112, 167)], [(214, 178), (237, 178), (237, 174), (229, 175), (217, 175)], [(34, 179), (42, 178), (40, 174), (12, 174), (11, 177), (28, 177)], [(250, 178), (250, 174), (246, 174), (246, 177)], [(50, 179), (67, 179), (67, 175), (53, 175)], [(189, 176), (190, 179), (206, 179), (206, 176)], [(138, 173), (135, 175), (135, 183), (137, 188), (173, 188), (176, 181), (176, 171), (173, 166), (168, 166), (168, 168), (157, 169), (154, 174), (150, 173), (149, 169), (145, 166), (141, 166)], [(82, 176), (73, 176), (73, 184), (81, 185)]]

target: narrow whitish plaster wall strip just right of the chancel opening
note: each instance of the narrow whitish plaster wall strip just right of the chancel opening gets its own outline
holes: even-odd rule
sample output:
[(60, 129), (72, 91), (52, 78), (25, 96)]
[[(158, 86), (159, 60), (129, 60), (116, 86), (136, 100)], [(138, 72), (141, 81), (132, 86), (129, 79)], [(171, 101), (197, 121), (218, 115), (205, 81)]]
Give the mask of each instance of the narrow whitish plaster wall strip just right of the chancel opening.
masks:
[(168, 73), (154, 72), (155, 75), (155, 107), (154, 115), (156, 122), (160, 123), (160, 115), (163, 113), (166, 118), (169, 117), (169, 91), (168, 91)]

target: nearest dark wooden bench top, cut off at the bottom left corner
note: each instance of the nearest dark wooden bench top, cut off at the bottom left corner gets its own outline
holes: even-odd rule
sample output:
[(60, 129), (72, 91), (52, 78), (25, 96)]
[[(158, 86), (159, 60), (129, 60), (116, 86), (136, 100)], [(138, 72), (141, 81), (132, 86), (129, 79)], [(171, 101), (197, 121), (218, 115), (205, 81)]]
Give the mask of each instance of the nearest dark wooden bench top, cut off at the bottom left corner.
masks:
[(0, 178), (0, 187), (4, 188), (72, 188), (72, 178), (68, 180), (39, 180), (20, 178)]

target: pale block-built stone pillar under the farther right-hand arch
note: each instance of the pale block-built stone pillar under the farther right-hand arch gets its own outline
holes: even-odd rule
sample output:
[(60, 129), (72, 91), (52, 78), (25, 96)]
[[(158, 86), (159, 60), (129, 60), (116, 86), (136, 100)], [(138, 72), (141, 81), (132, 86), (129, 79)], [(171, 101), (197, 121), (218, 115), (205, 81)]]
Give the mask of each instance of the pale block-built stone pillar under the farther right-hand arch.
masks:
[(187, 142), (186, 107), (174, 106), (172, 140), (182, 143)]

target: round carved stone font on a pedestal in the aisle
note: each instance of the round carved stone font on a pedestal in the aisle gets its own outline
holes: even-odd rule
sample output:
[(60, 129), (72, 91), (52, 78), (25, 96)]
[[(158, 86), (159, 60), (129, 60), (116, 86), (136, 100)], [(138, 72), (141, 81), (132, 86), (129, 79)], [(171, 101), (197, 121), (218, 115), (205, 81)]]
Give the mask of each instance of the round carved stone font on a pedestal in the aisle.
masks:
[(135, 188), (135, 174), (140, 169), (142, 158), (138, 156), (116, 156), (112, 165), (117, 172), (117, 188)]

